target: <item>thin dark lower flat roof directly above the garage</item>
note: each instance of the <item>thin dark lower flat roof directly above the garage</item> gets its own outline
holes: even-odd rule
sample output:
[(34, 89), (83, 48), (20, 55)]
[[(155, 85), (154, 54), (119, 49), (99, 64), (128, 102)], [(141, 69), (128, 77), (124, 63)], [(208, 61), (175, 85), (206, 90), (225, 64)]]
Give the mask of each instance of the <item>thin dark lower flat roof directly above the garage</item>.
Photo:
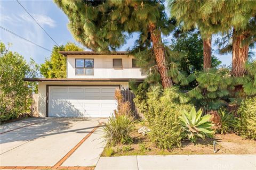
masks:
[(46, 78), (24, 78), (24, 81), (62, 81), (62, 82), (127, 82), (130, 80), (135, 80), (138, 82), (143, 82), (145, 79), (46, 79)]

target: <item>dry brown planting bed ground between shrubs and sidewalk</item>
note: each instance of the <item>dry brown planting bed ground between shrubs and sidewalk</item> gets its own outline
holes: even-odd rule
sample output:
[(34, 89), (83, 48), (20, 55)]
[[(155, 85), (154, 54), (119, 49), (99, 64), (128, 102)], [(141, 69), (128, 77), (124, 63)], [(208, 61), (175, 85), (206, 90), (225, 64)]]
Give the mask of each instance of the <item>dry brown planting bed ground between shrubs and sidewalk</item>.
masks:
[[(115, 145), (111, 156), (127, 155), (191, 155), (191, 154), (214, 154), (213, 141), (217, 141), (217, 153), (215, 154), (256, 154), (256, 141), (244, 139), (236, 134), (216, 134), (213, 139), (198, 139), (196, 145), (190, 141), (183, 141), (180, 148), (172, 150), (163, 150), (148, 139), (138, 133), (141, 124), (137, 123), (134, 131), (131, 133), (133, 143), (131, 145)], [(103, 157), (108, 155), (109, 147), (106, 147), (102, 153)]]

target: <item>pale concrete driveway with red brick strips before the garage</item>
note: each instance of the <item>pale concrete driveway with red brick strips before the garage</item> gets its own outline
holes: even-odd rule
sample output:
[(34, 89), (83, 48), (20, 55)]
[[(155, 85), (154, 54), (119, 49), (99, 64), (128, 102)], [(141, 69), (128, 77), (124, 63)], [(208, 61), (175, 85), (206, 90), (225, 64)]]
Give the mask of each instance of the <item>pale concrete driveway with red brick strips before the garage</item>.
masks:
[(1, 125), (0, 165), (2, 168), (95, 166), (105, 146), (102, 125), (97, 126), (106, 121), (106, 118), (28, 118)]

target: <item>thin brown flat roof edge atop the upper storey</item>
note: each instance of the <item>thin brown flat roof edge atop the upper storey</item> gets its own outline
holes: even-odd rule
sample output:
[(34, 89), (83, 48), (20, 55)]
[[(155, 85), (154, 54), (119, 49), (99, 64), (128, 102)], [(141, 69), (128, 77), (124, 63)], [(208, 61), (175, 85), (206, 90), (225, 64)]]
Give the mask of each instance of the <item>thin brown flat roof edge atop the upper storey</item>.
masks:
[(83, 52), (59, 52), (62, 55), (127, 55), (129, 52), (119, 51), (119, 52), (91, 52), (91, 51), (83, 51)]

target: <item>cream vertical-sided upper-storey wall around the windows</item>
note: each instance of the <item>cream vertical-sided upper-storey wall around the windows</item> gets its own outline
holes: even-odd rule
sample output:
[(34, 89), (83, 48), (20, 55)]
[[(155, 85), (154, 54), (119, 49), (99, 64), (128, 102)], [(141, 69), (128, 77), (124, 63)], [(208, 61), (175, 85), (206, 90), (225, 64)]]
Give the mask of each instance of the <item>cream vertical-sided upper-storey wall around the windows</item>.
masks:
[[(94, 59), (94, 75), (76, 75), (75, 60), (78, 58)], [(122, 58), (123, 68), (113, 68), (113, 58)], [(140, 68), (132, 68), (132, 58), (128, 55), (67, 55), (67, 78), (146, 78), (147, 75), (141, 75)]]

